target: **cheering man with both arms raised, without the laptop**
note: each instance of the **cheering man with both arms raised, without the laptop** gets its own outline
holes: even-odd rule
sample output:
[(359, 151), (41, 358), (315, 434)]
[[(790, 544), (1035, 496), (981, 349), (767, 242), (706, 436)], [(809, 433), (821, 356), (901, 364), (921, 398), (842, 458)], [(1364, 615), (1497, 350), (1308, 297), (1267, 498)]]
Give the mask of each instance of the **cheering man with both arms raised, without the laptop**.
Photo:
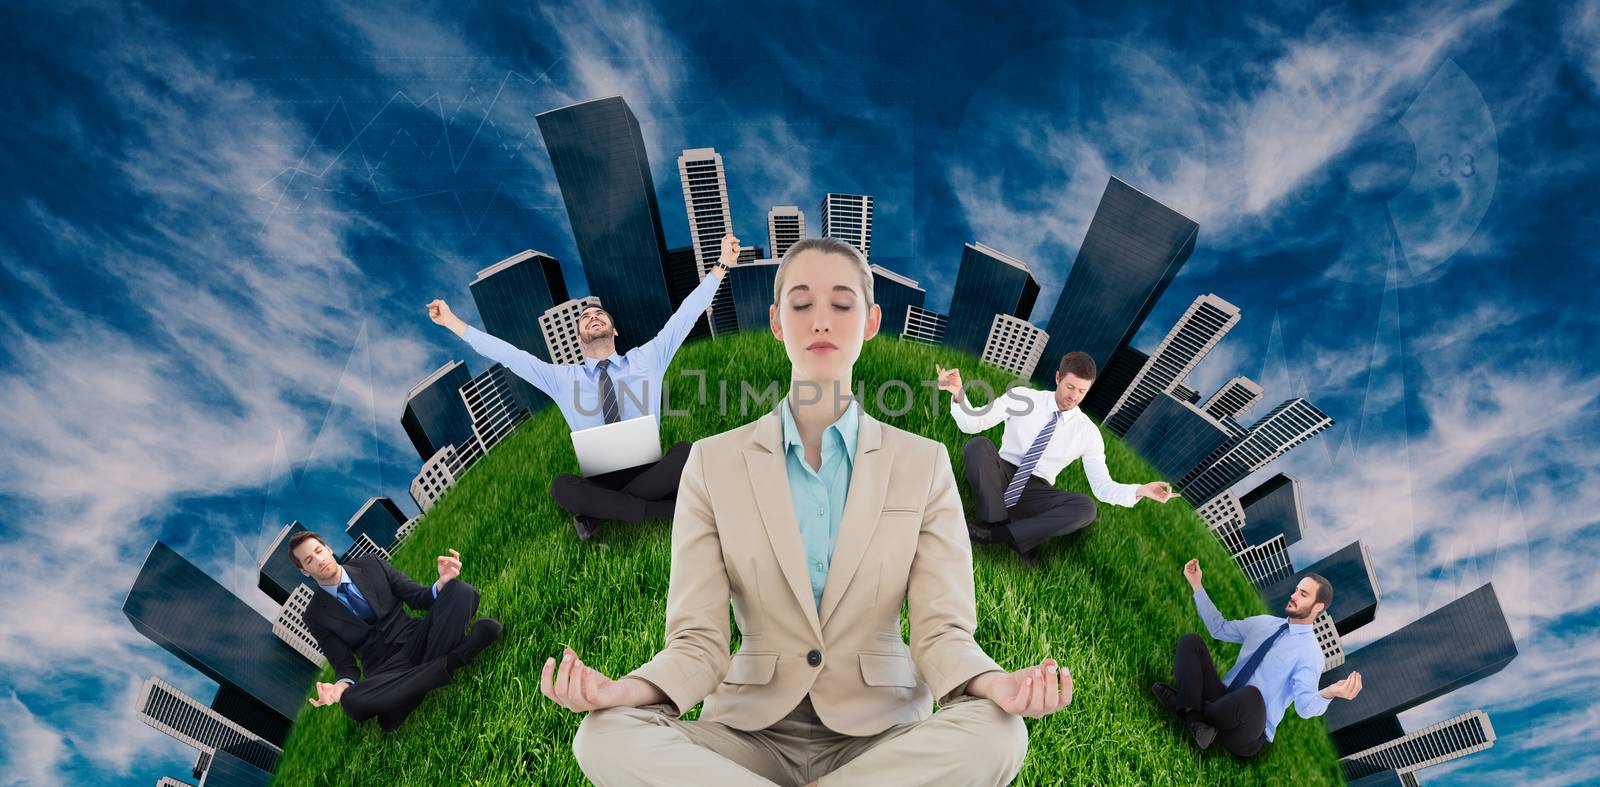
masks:
[[(427, 317), (466, 339), (478, 355), (499, 362), (555, 400), (568, 427), (589, 429), (661, 411), (662, 378), (672, 357), (694, 328), (694, 320), (710, 306), (728, 269), (738, 262), (739, 238), (730, 232), (722, 238), (717, 264), (678, 304), (661, 333), (622, 355), (616, 352), (619, 331), (611, 312), (597, 304), (586, 306), (578, 314), (582, 363), (549, 363), (523, 352), (464, 323), (443, 301), (427, 304)], [(550, 481), (550, 497), (571, 512), (573, 529), (584, 541), (594, 537), (606, 520), (670, 517), (688, 454), (690, 443), (680, 441), (656, 462), (587, 478), (560, 473)]]

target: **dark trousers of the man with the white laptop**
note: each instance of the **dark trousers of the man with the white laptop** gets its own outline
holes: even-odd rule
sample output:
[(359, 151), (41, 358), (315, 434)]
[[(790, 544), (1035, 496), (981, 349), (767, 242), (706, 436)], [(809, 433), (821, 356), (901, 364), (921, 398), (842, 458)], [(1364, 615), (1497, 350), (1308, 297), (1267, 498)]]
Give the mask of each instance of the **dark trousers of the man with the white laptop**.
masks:
[(678, 478), (690, 457), (690, 441), (674, 445), (653, 464), (624, 467), (610, 473), (562, 473), (550, 481), (555, 504), (581, 517), (597, 520), (640, 521), (650, 517), (672, 517), (678, 496)]

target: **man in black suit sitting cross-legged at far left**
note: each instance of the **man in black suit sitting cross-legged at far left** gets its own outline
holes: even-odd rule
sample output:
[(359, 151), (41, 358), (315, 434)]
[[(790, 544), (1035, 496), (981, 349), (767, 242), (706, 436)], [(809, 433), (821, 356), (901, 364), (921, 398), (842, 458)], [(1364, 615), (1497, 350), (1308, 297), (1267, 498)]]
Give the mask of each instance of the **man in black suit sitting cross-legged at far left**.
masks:
[[(493, 617), (462, 633), (478, 611), (478, 589), (456, 579), (456, 550), (438, 557), (438, 581), (424, 587), (376, 555), (339, 565), (310, 531), (291, 536), (288, 547), (301, 574), (322, 589), (306, 606), (306, 627), (334, 672), (333, 683), (317, 683), (312, 705), (338, 702), (352, 720), (378, 717), (386, 733), (394, 731), (429, 691), (450, 685), (451, 673), (499, 638)], [(402, 601), (427, 614), (413, 617)]]

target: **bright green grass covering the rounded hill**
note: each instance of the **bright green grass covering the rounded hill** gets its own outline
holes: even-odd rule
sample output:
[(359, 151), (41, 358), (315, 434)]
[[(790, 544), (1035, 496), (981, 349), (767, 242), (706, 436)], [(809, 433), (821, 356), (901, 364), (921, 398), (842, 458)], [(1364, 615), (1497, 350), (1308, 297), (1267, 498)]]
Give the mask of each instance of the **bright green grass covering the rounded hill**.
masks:
[[(934, 362), (962, 368), (971, 382), (1003, 390), (1008, 374), (979, 368), (971, 357), (942, 349), (867, 342), (856, 381), (862, 405), (901, 429), (944, 441), (950, 449), (966, 510), (962, 443), (946, 406), (930, 408)], [(662, 443), (694, 440), (757, 417), (741, 414), (739, 382), (760, 390), (778, 379), (787, 389), (789, 362), (768, 334), (685, 346), (667, 376), (672, 406), (698, 395), (694, 378), (707, 370), (709, 406), (693, 417), (664, 417)], [(915, 406), (883, 416), (872, 400), (878, 382), (912, 382)], [(728, 382), (730, 413), (718, 416), (718, 382)], [(902, 409), (902, 392), (885, 395)], [(997, 443), (1000, 427), (986, 432)], [(482, 593), (480, 613), (506, 624), (506, 638), (456, 683), (435, 691), (406, 725), (382, 734), (376, 721), (354, 725), (338, 709), (306, 707), (285, 747), (275, 784), (586, 784), (571, 757), (579, 715), (539, 694), (544, 659), (570, 645), (582, 659), (618, 677), (648, 661), (662, 643), (667, 597), (669, 523), (608, 525), (602, 542), (579, 542), (568, 517), (549, 496), (550, 478), (576, 467), (566, 424), (547, 408), (496, 446), (419, 523), (395, 555), (402, 571), (422, 582), (435, 576), (434, 555), (461, 552), (462, 579)], [(1114, 435), (1107, 464), (1122, 481), (1158, 475)], [(1086, 491), (1078, 464), (1059, 486)], [(1042, 565), (1024, 566), (1003, 547), (974, 547), (978, 641), (1008, 669), (1058, 657), (1074, 675), (1074, 702), (1043, 720), (1029, 720), (1027, 761), (1016, 784), (1341, 784), (1336, 753), (1322, 720), (1293, 710), (1277, 741), (1250, 761), (1226, 752), (1198, 752), (1150, 697), (1149, 685), (1171, 680), (1178, 635), (1203, 632), (1181, 566), (1198, 557), (1206, 589), (1229, 617), (1266, 611), (1227, 553), (1206, 533), (1189, 501), (1133, 509), (1101, 504), (1090, 528), (1040, 549)], [(1213, 641), (1219, 664), (1238, 646)], [(323, 678), (330, 680), (325, 670)]]

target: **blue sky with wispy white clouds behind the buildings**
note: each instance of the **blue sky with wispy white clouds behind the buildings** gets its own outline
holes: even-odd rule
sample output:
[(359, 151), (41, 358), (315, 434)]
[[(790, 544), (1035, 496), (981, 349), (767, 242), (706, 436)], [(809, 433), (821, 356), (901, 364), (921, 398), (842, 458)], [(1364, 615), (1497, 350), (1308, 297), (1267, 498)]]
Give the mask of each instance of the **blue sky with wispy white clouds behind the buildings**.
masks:
[(669, 245), (677, 154), (715, 147), (746, 242), (771, 205), (814, 235), (824, 192), (872, 194), (875, 261), (933, 309), (978, 240), (1034, 267), (1046, 322), (1109, 174), (1198, 221), (1134, 344), (1216, 293), (1243, 320), (1190, 384), (1248, 374), (1338, 421), (1269, 472), (1302, 481), (1296, 561), (1373, 550), (1384, 600), (1346, 645), (1485, 581), (1506, 605), (1518, 659), (1405, 715), (1482, 707), (1501, 739), (1424, 781), (1600, 766), (1574, 691), (1600, 680), (1600, 574), (1576, 560), (1600, 545), (1594, 0), (5, 14), (0, 561), (26, 598), (0, 611), (5, 784), (186, 774), (133, 715), (149, 675), (211, 691), (118, 611), (150, 541), (266, 609), (277, 525), (410, 507), (405, 389), (482, 368), (422, 304), (477, 322), (466, 283), (523, 248), (586, 291), (533, 117), (610, 94), (643, 123)]

